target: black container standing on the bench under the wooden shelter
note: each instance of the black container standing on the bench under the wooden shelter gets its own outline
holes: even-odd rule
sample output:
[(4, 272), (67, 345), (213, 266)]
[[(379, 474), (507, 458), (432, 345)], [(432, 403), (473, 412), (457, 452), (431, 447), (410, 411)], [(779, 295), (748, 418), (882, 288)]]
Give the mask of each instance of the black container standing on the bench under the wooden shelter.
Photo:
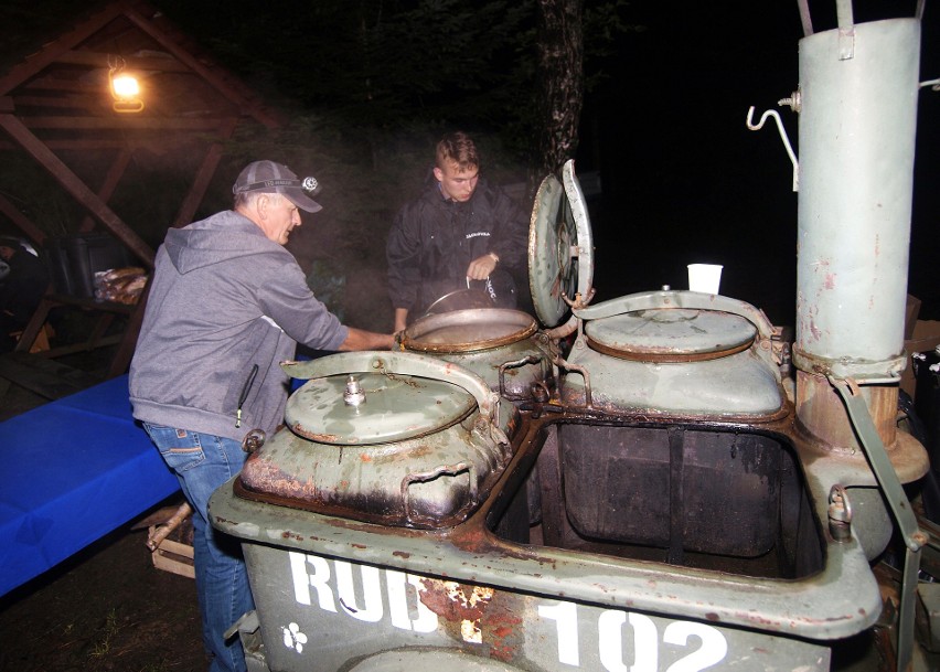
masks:
[(46, 259), (58, 294), (94, 298), (95, 274), (133, 265), (130, 253), (105, 233), (85, 233), (46, 243)]

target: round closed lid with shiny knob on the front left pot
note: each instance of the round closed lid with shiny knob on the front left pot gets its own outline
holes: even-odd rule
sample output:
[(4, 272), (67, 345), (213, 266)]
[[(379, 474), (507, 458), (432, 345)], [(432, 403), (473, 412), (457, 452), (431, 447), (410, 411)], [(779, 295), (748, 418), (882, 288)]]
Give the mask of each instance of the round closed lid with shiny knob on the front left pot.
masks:
[(285, 420), (320, 444), (389, 444), (446, 429), (474, 408), (472, 394), (446, 381), (356, 373), (307, 381), (288, 399)]

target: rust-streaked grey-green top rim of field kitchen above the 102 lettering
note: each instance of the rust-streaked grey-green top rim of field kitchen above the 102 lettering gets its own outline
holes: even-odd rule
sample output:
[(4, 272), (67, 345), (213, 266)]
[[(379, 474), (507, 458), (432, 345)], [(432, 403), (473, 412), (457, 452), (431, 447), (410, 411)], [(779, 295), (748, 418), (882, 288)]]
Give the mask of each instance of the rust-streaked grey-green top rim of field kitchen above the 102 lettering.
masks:
[[(213, 524), (247, 543), (275, 543), (306, 553), (329, 553), (355, 562), (434, 575), (446, 568), (455, 579), (512, 591), (586, 600), (595, 605), (650, 610), (763, 632), (832, 639), (864, 630), (880, 609), (877, 585), (861, 545), (825, 545), (825, 566), (800, 579), (770, 579), (676, 567), (594, 552), (503, 541), (487, 527), (491, 509), (504, 505), (503, 488), (517, 482), (520, 465), (544, 440), (545, 424), (523, 417), (519, 449), (480, 510), (448, 530), (418, 535), (334, 515), (291, 511), (236, 498), (232, 487), (213, 495)], [(793, 435), (791, 418), (777, 430)], [(541, 438), (540, 438), (541, 437)], [(803, 469), (807, 445), (794, 449)], [(838, 476), (845, 476), (841, 473)], [(813, 515), (823, 520), (833, 481), (825, 470), (807, 479)], [(851, 587), (850, 587), (851, 586)], [(747, 608), (743, 608), (746, 596)]]

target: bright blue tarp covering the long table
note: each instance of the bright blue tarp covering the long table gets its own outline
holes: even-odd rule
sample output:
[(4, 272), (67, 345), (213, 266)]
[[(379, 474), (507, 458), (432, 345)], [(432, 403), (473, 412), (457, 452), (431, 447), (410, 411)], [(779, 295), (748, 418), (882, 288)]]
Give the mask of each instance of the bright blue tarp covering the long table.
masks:
[(0, 595), (179, 490), (127, 376), (0, 423)]

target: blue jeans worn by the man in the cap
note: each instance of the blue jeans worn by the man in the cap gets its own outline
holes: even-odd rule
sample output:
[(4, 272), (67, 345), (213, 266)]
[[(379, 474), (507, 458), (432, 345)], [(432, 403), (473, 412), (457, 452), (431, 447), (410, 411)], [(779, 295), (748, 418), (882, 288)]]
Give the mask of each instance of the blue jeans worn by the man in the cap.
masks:
[(143, 423), (143, 428), (172, 469), (193, 508), (193, 564), (202, 631), (212, 657), (210, 672), (245, 672), (242, 642), (223, 633), (255, 608), (248, 574), (237, 540), (209, 522), (209, 498), (242, 470), (247, 454), (238, 441)]

